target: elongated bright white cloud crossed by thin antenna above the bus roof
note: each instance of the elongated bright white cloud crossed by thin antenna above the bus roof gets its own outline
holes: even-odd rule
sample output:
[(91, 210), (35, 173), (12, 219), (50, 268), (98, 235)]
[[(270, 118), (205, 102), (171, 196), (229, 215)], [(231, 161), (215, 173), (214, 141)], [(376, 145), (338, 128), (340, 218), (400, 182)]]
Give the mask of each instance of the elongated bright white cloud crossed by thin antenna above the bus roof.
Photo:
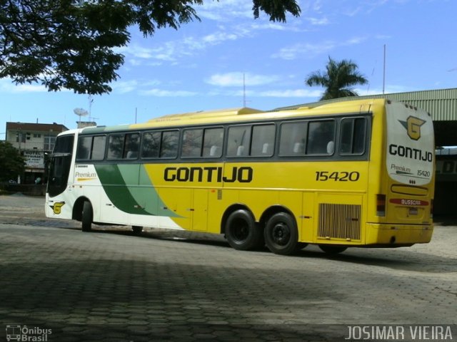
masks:
[[(253, 73), (244, 73), (244, 84), (246, 86), (262, 86), (279, 81), (279, 76), (271, 75), (256, 75)], [(205, 80), (206, 83), (212, 86), (219, 87), (242, 87), (243, 73), (216, 73)]]

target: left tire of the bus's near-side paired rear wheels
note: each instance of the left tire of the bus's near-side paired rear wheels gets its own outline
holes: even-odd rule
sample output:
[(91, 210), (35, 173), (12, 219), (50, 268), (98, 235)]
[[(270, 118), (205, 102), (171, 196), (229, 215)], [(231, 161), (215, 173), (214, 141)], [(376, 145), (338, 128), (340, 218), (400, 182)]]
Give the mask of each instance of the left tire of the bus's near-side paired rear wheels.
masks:
[(225, 234), (227, 242), (234, 249), (248, 251), (263, 245), (261, 229), (246, 209), (238, 209), (229, 215)]

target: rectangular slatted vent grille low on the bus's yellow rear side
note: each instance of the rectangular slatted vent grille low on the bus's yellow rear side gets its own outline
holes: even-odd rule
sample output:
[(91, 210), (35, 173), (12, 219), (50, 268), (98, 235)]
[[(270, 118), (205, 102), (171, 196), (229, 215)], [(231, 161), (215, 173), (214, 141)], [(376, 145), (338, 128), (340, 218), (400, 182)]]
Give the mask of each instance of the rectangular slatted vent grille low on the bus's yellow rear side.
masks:
[(360, 240), (360, 213), (358, 204), (319, 204), (318, 237)]

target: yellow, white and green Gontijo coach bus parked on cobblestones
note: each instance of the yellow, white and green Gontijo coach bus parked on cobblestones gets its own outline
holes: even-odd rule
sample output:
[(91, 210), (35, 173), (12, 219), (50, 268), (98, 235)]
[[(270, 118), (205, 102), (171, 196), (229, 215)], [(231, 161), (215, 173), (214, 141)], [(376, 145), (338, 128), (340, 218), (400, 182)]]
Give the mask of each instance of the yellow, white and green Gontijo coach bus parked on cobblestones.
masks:
[(390, 100), (166, 115), (56, 138), (46, 216), (235, 249), (406, 247), (433, 232), (431, 115)]

